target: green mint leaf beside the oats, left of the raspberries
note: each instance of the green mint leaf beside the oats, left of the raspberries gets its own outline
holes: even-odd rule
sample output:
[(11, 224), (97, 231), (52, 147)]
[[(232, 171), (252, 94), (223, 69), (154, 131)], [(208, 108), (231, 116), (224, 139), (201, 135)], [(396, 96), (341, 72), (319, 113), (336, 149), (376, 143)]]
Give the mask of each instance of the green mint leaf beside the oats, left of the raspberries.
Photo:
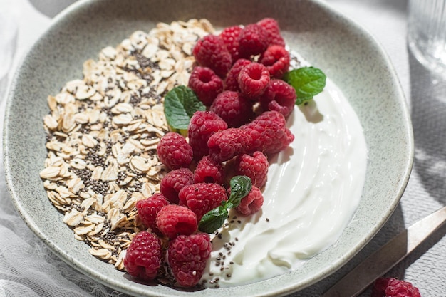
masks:
[(185, 85), (179, 85), (165, 95), (164, 113), (167, 124), (176, 132), (187, 130), (190, 118), (197, 110), (206, 110), (206, 106)]

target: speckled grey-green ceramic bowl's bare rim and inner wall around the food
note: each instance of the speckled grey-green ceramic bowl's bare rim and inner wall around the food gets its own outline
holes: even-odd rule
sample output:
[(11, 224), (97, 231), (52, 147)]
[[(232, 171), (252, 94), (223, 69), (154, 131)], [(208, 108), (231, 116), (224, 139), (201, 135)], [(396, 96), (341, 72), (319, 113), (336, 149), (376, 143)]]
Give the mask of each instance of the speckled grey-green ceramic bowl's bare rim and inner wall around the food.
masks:
[[(222, 28), (264, 17), (279, 20), (291, 48), (325, 71), (356, 110), (368, 146), (361, 202), (336, 244), (301, 269), (233, 288), (180, 291), (147, 286), (95, 259), (73, 238), (63, 214), (48, 201), (39, 172), (46, 157), (42, 119), (46, 98), (82, 77), (83, 61), (115, 46), (135, 30), (159, 21), (209, 19)], [(6, 106), (4, 165), (16, 209), (28, 226), (68, 264), (97, 281), (135, 296), (281, 296), (336, 271), (387, 221), (408, 182), (413, 134), (408, 108), (393, 67), (375, 39), (333, 11), (310, 0), (94, 0), (80, 1), (56, 16), (17, 71)]]

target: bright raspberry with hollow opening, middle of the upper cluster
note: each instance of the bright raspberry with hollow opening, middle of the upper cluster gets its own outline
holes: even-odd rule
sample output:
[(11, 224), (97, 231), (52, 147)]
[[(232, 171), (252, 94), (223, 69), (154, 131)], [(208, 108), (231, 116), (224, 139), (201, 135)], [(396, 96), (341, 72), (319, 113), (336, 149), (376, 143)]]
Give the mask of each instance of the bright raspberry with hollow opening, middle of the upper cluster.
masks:
[(242, 94), (256, 100), (268, 87), (269, 72), (263, 64), (253, 62), (242, 68), (238, 81)]

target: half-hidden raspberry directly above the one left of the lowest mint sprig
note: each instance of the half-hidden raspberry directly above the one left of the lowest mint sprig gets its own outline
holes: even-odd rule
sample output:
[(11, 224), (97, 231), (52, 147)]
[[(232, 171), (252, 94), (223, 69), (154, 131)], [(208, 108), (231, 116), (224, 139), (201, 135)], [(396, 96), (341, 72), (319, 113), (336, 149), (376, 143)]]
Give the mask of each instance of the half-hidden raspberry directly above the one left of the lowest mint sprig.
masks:
[(194, 172), (194, 183), (207, 182), (211, 184), (223, 184), (224, 172), (222, 163), (215, 162), (209, 156), (199, 160)]

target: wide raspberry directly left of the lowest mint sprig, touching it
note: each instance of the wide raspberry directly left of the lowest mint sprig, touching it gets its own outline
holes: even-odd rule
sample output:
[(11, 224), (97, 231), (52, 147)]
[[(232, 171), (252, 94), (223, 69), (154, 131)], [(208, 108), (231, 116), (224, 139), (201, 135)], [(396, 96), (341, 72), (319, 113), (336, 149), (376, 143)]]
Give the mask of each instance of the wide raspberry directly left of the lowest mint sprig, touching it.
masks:
[(180, 205), (189, 207), (197, 215), (199, 222), (203, 215), (227, 200), (224, 187), (219, 184), (200, 182), (183, 187), (178, 194)]

